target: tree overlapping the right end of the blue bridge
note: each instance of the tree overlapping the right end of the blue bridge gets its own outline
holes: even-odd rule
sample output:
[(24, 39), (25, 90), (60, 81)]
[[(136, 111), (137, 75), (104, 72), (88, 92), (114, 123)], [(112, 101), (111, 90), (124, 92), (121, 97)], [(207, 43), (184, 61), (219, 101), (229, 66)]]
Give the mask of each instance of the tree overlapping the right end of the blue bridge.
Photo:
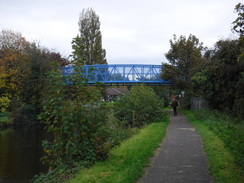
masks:
[(170, 50), (165, 54), (169, 64), (163, 64), (162, 78), (172, 81), (180, 90), (190, 91), (191, 77), (204, 64), (201, 54), (204, 50), (203, 43), (194, 35), (189, 35), (188, 38), (180, 36), (179, 39), (174, 35), (170, 46)]

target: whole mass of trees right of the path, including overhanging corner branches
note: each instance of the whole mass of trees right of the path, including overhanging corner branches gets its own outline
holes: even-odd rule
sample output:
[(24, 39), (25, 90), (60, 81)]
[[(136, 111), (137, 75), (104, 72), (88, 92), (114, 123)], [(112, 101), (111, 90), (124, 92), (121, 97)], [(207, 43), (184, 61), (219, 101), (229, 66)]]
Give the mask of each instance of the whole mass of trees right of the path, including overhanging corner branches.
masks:
[(244, 119), (243, 11), (244, 5), (237, 4), (232, 30), (239, 37), (220, 39), (213, 48), (204, 48), (193, 35), (170, 40), (162, 78), (171, 80), (178, 94), (186, 91), (183, 107), (190, 108), (191, 96), (202, 97), (212, 109)]

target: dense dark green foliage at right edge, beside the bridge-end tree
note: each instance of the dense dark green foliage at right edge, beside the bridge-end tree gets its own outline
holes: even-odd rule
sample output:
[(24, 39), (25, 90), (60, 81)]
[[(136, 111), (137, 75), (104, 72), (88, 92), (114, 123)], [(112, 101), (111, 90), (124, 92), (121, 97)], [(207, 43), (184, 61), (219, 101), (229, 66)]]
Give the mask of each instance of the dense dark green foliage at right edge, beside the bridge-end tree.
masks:
[(244, 49), (242, 40), (220, 40), (206, 52), (209, 63), (192, 77), (193, 91), (206, 98), (212, 108), (243, 119)]

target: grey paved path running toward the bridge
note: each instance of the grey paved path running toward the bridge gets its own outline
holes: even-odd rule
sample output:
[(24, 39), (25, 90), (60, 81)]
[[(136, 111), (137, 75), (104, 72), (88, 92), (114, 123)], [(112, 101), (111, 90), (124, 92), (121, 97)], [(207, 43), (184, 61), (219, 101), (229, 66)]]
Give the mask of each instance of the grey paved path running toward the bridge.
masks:
[(200, 136), (184, 115), (169, 115), (165, 139), (138, 183), (212, 182)]

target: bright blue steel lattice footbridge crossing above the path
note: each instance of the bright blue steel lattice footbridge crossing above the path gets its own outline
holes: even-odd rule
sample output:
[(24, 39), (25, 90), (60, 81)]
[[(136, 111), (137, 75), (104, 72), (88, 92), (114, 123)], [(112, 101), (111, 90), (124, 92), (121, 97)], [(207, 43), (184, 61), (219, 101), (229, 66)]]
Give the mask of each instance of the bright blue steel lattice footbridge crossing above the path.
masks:
[[(170, 81), (160, 78), (162, 65), (141, 64), (102, 64), (85, 65), (84, 77), (88, 78), (88, 84), (101, 82), (105, 85), (133, 85), (145, 83), (148, 85), (170, 85)], [(91, 71), (92, 70), (92, 71)], [(63, 69), (64, 75), (73, 72), (71, 66)]]

